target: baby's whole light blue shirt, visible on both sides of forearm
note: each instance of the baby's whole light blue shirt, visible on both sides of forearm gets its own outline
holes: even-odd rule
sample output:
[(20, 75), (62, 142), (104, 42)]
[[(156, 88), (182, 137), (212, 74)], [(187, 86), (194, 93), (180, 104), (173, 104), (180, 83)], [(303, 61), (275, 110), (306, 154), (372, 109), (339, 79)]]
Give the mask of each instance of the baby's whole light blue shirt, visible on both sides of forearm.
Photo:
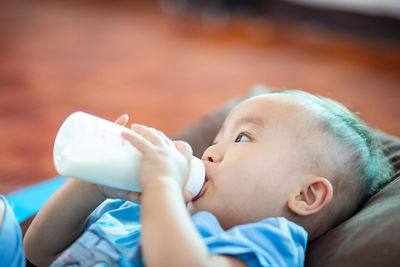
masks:
[[(238, 257), (249, 266), (303, 266), (307, 232), (285, 218), (268, 218), (227, 231), (209, 212), (192, 221), (210, 254)], [(52, 264), (145, 266), (140, 248), (140, 205), (107, 200), (89, 217), (86, 231)]]

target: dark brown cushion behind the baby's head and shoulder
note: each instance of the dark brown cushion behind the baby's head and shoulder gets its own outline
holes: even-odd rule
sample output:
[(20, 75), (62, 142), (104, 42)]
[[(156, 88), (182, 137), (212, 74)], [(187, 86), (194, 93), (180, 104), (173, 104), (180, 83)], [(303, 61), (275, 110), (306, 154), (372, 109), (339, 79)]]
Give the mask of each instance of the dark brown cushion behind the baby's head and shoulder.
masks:
[[(243, 99), (269, 90), (257, 86)], [(201, 157), (229, 111), (243, 99), (228, 102), (182, 131), (175, 139), (191, 144), (194, 155)], [(358, 213), (308, 244), (306, 266), (399, 266), (400, 138), (380, 131), (375, 133), (395, 167), (395, 175)]]

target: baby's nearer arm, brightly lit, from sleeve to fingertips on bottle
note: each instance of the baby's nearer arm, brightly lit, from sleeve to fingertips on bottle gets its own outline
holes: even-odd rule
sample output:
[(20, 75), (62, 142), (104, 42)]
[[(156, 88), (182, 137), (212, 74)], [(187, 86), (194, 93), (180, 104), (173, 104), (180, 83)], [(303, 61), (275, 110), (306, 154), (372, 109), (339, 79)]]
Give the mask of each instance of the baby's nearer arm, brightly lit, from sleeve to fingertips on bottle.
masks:
[(145, 126), (132, 129), (136, 134), (123, 136), (143, 153), (141, 222), (147, 266), (246, 266), (237, 258), (210, 255), (191, 221), (182, 194), (190, 146)]

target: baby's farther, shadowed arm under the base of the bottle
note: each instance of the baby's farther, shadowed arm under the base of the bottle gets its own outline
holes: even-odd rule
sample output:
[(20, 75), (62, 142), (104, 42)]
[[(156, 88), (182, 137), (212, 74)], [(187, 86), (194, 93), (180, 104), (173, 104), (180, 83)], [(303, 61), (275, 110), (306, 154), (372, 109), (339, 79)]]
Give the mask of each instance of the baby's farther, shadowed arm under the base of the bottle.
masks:
[(48, 266), (83, 232), (90, 213), (105, 200), (96, 185), (69, 179), (44, 204), (24, 238), (26, 257)]

